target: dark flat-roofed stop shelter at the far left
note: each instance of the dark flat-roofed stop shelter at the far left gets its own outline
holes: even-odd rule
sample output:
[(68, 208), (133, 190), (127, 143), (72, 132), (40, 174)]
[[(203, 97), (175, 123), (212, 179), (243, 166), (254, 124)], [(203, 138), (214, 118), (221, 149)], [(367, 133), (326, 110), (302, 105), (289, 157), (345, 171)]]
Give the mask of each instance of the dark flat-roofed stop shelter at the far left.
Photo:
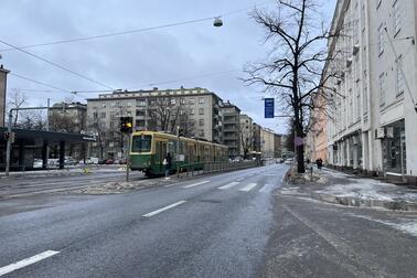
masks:
[[(0, 128), (0, 169), (6, 169), (7, 128)], [(96, 137), (82, 133), (67, 133), (43, 130), (13, 129), (14, 142), (11, 148), (10, 170), (25, 171), (33, 169), (34, 159), (42, 159), (42, 169), (47, 168), (47, 153), (51, 147), (57, 147), (58, 168), (65, 167), (65, 147), (67, 143), (79, 143), (86, 150), (88, 142), (95, 142)], [(84, 151), (85, 157), (85, 151)]]

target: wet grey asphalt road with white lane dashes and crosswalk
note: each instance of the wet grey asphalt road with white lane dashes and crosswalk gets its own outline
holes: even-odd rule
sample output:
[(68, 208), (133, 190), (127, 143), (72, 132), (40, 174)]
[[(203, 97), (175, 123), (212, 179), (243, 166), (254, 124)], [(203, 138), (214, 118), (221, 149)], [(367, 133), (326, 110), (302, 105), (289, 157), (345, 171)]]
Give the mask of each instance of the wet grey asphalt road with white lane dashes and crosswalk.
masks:
[(287, 169), (1, 201), (0, 277), (415, 276), (416, 237), (373, 220), (396, 215), (282, 195)]

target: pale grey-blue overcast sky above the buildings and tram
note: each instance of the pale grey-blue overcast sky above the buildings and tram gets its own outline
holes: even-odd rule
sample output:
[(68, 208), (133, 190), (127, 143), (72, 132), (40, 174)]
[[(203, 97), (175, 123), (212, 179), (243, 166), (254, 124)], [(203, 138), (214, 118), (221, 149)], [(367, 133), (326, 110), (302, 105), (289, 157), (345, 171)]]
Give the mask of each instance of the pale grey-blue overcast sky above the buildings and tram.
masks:
[[(225, 14), (222, 28), (214, 28), (209, 20), (26, 51), (111, 88), (148, 89), (152, 84), (161, 89), (181, 85), (205, 87), (224, 100), (229, 99), (256, 122), (285, 132), (285, 119), (264, 119), (261, 88), (247, 87), (238, 79), (245, 77), (242, 72), (245, 63), (259, 61), (267, 53), (263, 30), (247, 14), (255, 4), (276, 8), (274, 0), (1, 0), (0, 40), (23, 46)], [(335, 0), (324, 1), (322, 13), (328, 22), (334, 4)], [(67, 90), (106, 89), (6, 49), (9, 46), (0, 43), (0, 63), (11, 73)], [(164, 83), (169, 81), (178, 82)], [(45, 105), (47, 97), (62, 101), (71, 96), (63, 92), (33, 92), (51, 88), (10, 75), (8, 90), (12, 88), (24, 92), (31, 105)], [(77, 96), (75, 100), (85, 98)]]

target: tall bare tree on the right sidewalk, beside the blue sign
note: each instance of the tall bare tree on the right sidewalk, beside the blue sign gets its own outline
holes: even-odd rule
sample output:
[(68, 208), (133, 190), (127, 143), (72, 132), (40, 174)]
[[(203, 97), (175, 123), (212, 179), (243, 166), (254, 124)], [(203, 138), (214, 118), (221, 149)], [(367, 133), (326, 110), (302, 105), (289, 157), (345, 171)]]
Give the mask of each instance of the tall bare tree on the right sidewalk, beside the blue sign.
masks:
[[(279, 0), (276, 12), (255, 9), (252, 18), (265, 29), (265, 41), (274, 46), (268, 57), (245, 68), (248, 85), (260, 84), (280, 98), (282, 109), (293, 119), (296, 137), (304, 138), (314, 96), (327, 88), (338, 72), (322, 75), (328, 56), (325, 43), (336, 36), (324, 26), (318, 0)], [(338, 54), (338, 53), (335, 53)], [(304, 172), (303, 146), (297, 147), (298, 172)]]

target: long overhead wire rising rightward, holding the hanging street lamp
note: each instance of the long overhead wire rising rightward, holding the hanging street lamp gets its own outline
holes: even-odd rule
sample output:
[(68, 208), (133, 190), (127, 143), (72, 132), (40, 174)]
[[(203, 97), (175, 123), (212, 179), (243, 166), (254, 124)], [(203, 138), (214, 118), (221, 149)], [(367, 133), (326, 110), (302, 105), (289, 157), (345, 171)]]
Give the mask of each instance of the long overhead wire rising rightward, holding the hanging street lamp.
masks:
[[(272, 2), (271, 1), (265, 1), (265, 2), (261, 2), (261, 3), (258, 3), (258, 4), (255, 3), (254, 7), (256, 7), (256, 6), (264, 6), (264, 4), (267, 4), (267, 3), (272, 3)], [(152, 30), (158, 30), (158, 29), (165, 29), (165, 28), (172, 28), (172, 26), (179, 26), (179, 25), (186, 25), (186, 24), (192, 24), (192, 23), (211, 21), (211, 20), (213, 20), (215, 18), (227, 17), (227, 15), (231, 15), (231, 14), (234, 14), (234, 13), (240, 13), (240, 12), (244, 12), (244, 11), (248, 11), (249, 9), (250, 9), (250, 7), (247, 7), (247, 8), (244, 8), (244, 9), (238, 9), (238, 10), (225, 12), (225, 13), (222, 13), (220, 15), (213, 15), (213, 17), (207, 17), (207, 18), (202, 18), (202, 19), (195, 19), (195, 20), (189, 20), (189, 21), (180, 21), (180, 22), (168, 23), (168, 24), (158, 25), (158, 26), (132, 29), (132, 30), (120, 31), (120, 32), (113, 32), (113, 33), (107, 33), (107, 34), (74, 38), (74, 39), (53, 41), (53, 42), (46, 42), (46, 43), (39, 43), (39, 44), (29, 44), (29, 45), (20, 46), (19, 49), (24, 50), (24, 49), (33, 49), (33, 47), (40, 47), (40, 46), (55, 45), (55, 44), (73, 43), (73, 42), (81, 42), (81, 41), (90, 41), (90, 40), (98, 40), (98, 39), (105, 39), (105, 38), (117, 36), (117, 35), (141, 33), (141, 32), (147, 32), (147, 31), (152, 31)], [(15, 47), (9, 47), (9, 49), (0, 50), (0, 52), (8, 52), (8, 51), (14, 51), (14, 50), (17, 50), (17, 49)]]

